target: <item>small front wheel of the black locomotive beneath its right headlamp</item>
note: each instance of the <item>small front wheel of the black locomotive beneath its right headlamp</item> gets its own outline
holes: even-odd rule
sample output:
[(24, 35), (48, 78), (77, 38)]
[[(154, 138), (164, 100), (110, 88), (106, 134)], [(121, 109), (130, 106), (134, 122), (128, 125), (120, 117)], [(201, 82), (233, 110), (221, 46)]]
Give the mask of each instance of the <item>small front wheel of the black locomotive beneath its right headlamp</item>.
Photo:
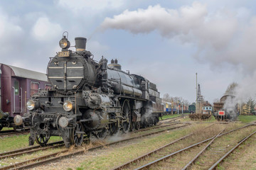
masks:
[(83, 136), (84, 129), (82, 123), (77, 123), (77, 125), (75, 126), (75, 130), (73, 130), (73, 132), (71, 131), (71, 143), (73, 143), (76, 147), (82, 145)]

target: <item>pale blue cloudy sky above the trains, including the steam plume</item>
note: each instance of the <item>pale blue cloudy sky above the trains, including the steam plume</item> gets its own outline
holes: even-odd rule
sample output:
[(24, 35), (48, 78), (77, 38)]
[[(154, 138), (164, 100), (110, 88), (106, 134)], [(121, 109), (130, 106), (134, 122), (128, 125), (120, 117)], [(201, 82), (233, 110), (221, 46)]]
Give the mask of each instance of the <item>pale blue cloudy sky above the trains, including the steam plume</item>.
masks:
[(228, 84), (255, 97), (256, 1), (0, 0), (0, 62), (46, 72), (63, 31), (100, 60), (157, 84), (161, 95), (213, 102)]

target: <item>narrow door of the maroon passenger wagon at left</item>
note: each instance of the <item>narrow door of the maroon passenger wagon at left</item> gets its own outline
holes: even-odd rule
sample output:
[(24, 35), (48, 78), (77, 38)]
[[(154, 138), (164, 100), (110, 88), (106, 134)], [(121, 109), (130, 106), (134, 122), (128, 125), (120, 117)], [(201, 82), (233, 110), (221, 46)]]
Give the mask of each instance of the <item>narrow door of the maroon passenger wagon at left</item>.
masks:
[(21, 113), (21, 83), (18, 79), (14, 79), (13, 89), (13, 108), (14, 113)]

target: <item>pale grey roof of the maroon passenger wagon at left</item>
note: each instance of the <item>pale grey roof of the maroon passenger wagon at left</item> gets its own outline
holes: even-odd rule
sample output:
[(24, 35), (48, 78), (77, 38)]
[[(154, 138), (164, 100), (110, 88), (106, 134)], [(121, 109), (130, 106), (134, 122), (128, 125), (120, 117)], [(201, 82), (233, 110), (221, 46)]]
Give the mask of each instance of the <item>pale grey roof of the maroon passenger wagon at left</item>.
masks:
[(7, 65), (7, 66), (11, 67), (11, 69), (14, 71), (15, 77), (23, 77), (23, 78), (27, 78), (27, 79), (48, 81), (46, 74), (44, 74), (44, 73), (31, 71), (29, 69), (22, 69), (22, 68), (14, 67), (11, 65)]

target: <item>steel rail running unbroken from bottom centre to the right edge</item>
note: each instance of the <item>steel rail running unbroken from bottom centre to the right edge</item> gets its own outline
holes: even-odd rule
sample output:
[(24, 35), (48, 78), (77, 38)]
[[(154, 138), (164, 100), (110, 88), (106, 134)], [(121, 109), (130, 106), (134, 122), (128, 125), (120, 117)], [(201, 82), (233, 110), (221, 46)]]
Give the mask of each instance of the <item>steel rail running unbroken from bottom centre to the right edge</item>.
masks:
[[(222, 133), (222, 134), (218, 135), (218, 137), (223, 136), (223, 135), (227, 135), (228, 133), (234, 132), (235, 130), (240, 130), (240, 129), (242, 129), (242, 128), (246, 128), (246, 127), (248, 127), (248, 126), (250, 126), (250, 125), (255, 125), (255, 124), (253, 123), (253, 124), (249, 124), (249, 125), (242, 126), (242, 127), (240, 127), (240, 128), (236, 128), (236, 129), (234, 129), (234, 130), (230, 130), (230, 131), (228, 131), (228, 132), (225, 132), (225, 133)], [(173, 156), (173, 155), (175, 155), (175, 154), (178, 154), (178, 153), (180, 153), (180, 152), (183, 152), (183, 151), (185, 151), (186, 149), (190, 149), (190, 148), (192, 148), (192, 147), (196, 147), (196, 146), (198, 146), (198, 145), (201, 145), (201, 144), (204, 143), (204, 142), (208, 142), (209, 140), (213, 140), (213, 138), (214, 138), (214, 137), (210, 137), (210, 138), (208, 138), (207, 140), (203, 140), (203, 141), (198, 142), (198, 143), (196, 143), (196, 144), (190, 145), (189, 147), (180, 149), (180, 150), (178, 150), (178, 151), (176, 151), (176, 152), (173, 152), (173, 153), (171, 153), (171, 154), (166, 155), (165, 157), (161, 157), (160, 159), (156, 159), (156, 160), (154, 160), (153, 162), (149, 162), (148, 164), (144, 164), (143, 166), (140, 166), (139, 168), (137, 168), (137, 169), (135, 169), (135, 170), (149, 168), (149, 166), (151, 166), (151, 165), (153, 165), (153, 164), (156, 164), (156, 163), (161, 162), (161, 161), (163, 161), (163, 160), (165, 160), (165, 159), (168, 159), (169, 157), (171, 157), (171, 156)]]

